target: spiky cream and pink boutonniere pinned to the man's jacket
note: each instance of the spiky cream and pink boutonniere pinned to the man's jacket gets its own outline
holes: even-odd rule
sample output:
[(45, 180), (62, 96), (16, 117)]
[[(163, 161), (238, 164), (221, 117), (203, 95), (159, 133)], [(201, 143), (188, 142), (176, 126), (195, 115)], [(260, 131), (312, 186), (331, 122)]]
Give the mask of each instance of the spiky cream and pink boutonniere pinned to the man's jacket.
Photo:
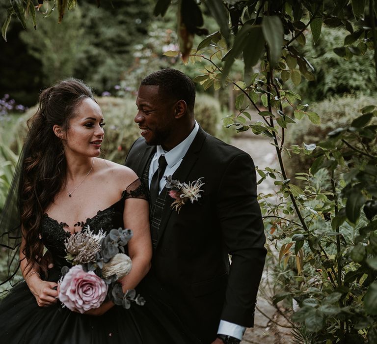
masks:
[(188, 184), (181, 183), (179, 180), (174, 180), (171, 175), (164, 176), (166, 179), (166, 188), (169, 189), (169, 196), (174, 199), (171, 207), (176, 210), (179, 214), (181, 207), (186, 204), (187, 201), (193, 203), (198, 201), (201, 197), (200, 193), (203, 192), (201, 187), (204, 183), (200, 180), (194, 180)]

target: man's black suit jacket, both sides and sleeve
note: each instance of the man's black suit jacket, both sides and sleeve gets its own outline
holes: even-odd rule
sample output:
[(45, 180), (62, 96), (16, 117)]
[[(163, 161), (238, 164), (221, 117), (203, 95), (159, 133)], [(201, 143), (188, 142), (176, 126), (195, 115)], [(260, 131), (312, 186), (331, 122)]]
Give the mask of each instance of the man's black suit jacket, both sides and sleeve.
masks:
[[(126, 166), (142, 177), (155, 151), (138, 139)], [(173, 179), (199, 178), (205, 183), (201, 198), (180, 213), (167, 197), (150, 274), (168, 291), (181, 320), (208, 344), (220, 319), (253, 326), (266, 249), (250, 156), (199, 128)]]

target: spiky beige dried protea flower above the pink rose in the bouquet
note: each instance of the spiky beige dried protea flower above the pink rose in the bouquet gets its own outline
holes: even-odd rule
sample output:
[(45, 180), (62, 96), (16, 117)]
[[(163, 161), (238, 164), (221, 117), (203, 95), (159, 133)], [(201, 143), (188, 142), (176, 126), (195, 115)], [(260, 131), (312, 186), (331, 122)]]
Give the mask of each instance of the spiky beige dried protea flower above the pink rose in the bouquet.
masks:
[(101, 250), (101, 240), (105, 236), (102, 229), (98, 234), (94, 234), (89, 226), (87, 229), (71, 235), (64, 244), (67, 251), (65, 258), (73, 265), (95, 261), (97, 252)]

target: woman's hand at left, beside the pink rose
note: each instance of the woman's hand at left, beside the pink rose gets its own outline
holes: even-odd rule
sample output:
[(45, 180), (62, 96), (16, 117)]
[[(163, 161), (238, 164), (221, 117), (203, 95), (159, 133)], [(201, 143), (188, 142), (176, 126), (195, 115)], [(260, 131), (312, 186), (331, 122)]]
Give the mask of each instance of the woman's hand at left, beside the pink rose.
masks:
[(30, 276), (27, 280), (27, 286), (37, 300), (39, 307), (47, 307), (56, 303), (58, 292), (54, 288), (57, 284), (41, 280), (38, 275)]

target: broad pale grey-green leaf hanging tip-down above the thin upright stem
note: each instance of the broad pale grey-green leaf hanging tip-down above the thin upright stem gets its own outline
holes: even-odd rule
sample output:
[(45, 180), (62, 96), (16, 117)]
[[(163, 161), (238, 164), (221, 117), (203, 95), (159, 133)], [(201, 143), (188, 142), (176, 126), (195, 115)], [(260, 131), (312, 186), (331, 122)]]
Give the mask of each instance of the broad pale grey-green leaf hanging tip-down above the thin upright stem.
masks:
[(269, 46), (270, 62), (274, 66), (281, 56), (281, 47), (284, 40), (284, 29), (277, 16), (263, 18), (262, 30)]

